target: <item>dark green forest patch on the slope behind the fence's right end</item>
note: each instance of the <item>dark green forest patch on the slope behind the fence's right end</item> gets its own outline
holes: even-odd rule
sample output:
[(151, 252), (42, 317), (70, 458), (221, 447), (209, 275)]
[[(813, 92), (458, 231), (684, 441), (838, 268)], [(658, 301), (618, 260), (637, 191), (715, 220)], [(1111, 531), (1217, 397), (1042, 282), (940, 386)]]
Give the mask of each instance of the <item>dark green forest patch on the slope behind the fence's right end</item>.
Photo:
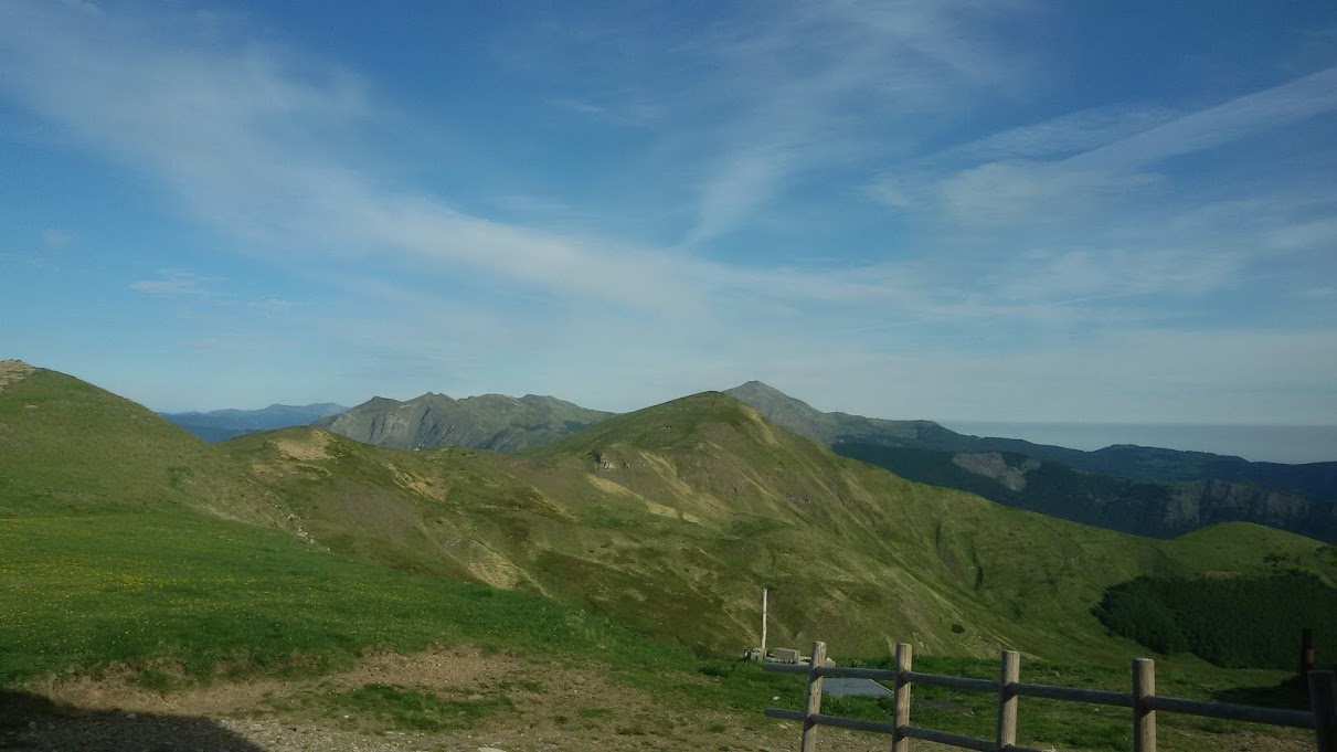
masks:
[(1308, 573), (1139, 577), (1107, 589), (1094, 613), (1158, 653), (1225, 668), (1297, 669), (1300, 633), (1312, 628), (1318, 665), (1337, 665), (1337, 589)]

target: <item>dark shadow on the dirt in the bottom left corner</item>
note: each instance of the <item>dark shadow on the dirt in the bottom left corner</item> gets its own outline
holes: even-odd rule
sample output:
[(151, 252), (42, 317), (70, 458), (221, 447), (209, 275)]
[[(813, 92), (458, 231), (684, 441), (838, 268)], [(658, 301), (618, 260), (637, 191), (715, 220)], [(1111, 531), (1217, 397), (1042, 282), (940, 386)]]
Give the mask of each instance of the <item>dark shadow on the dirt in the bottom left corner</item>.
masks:
[(263, 752), (209, 719), (84, 711), (0, 689), (0, 749)]

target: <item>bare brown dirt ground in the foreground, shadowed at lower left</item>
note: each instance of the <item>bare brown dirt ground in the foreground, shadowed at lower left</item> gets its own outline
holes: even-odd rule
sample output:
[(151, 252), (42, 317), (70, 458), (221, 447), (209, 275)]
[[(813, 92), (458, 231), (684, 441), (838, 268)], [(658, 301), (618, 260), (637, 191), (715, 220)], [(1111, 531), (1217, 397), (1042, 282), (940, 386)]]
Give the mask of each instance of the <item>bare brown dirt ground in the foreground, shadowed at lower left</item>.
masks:
[[(342, 707), (361, 688), (429, 690), (493, 708), (459, 728), (417, 731), (365, 707)], [(789, 751), (794, 723), (664, 707), (650, 693), (603, 676), (472, 649), (372, 656), (318, 678), (259, 680), (158, 693), (124, 677), (39, 682), (0, 693), (0, 748), (15, 749), (298, 749), (539, 752)], [(885, 739), (824, 729), (822, 749), (885, 749)], [(925, 751), (929, 745), (917, 747)]]

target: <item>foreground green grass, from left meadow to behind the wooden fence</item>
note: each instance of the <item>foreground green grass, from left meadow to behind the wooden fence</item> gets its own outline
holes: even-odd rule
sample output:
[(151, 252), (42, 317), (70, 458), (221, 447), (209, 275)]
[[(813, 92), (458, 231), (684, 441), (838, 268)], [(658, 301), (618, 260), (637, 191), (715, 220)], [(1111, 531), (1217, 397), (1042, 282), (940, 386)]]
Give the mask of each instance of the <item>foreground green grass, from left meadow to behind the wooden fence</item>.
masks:
[[(0, 516), (0, 547), (7, 551), (0, 562), (0, 607), (9, 616), (0, 622), (0, 686), (49, 674), (130, 669), (140, 684), (171, 690), (257, 676), (320, 674), (350, 666), (368, 650), (413, 653), (473, 645), (572, 665), (594, 658), (596, 670), (655, 692), (666, 708), (726, 709), (742, 724), (761, 723), (767, 705), (800, 708), (802, 700), (798, 677), (731, 660), (698, 661), (686, 650), (535, 594), (368, 565), (313, 550), (282, 533), (190, 512), (9, 514)], [(888, 664), (885, 656), (845, 662)], [(988, 678), (996, 664), (923, 656), (916, 669)], [(1128, 674), (1118, 666), (1025, 661), (1023, 677), (1126, 689)], [(1179, 660), (1163, 662), (1158, 684), (1165, 694), (1266, 701), (1263, 689), (1284, 677)], [(995, 700), (989, 694), (917, 688), (913, 697), (917, 725), (983, 737), (992, 733)], [(465, 702), (369, 685), (320, 702), (380, 719), (386, 728), (440, 729), (485, 723), (493, 713), (505, 713), (508, 700)], [(1127, 713), (1034, 700), (1023, 704), (1023, 741), (1111, 752), (1130, 748)], [(469, 715), (461, 717), (465, 705)], [(829, 698), (825, 709), (873, 719), (888, 713), (885, 702), (866, 700)], [(1226, 739), (1221, 735), (1238, 728), (1166, 719), (1162, 737), (1185, 745), (1163, 748), (1189, 749)]]

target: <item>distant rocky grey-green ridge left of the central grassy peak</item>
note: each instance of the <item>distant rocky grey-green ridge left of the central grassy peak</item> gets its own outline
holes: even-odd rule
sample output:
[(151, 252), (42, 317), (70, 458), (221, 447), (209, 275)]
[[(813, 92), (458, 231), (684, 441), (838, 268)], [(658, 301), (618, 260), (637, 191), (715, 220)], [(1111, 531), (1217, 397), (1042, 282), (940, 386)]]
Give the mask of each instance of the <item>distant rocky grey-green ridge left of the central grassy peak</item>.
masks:
[(611, 415), (550, 396), (480, 395), (456, 400), (429, 392), (408, 401), (373, 397), (314, 424), (365, 444), (400, 450), (463, 446), (515, 452), (555, 442)]

